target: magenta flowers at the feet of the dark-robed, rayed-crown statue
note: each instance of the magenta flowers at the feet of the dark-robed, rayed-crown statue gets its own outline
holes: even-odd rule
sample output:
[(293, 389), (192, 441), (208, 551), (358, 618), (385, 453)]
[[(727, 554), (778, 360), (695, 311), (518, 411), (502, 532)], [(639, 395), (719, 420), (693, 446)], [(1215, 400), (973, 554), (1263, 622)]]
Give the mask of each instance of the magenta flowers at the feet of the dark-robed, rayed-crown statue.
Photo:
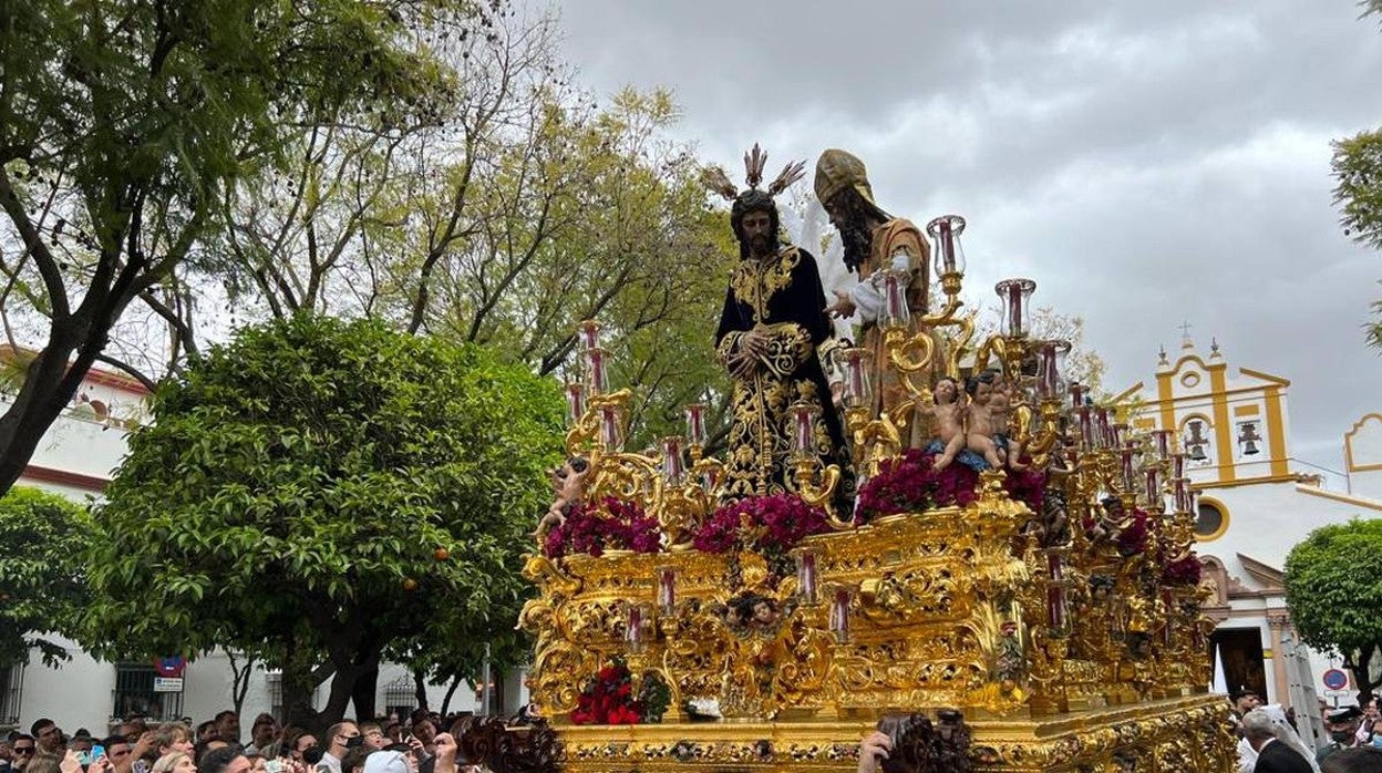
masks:
[(791, 550), (802, 539), (831, 530), (825, 510), (811, 507), (795, 494), (748, 496), (717, 509), (695, 535), (706, 553), (727, 553), (735, 546), (766, 552)]

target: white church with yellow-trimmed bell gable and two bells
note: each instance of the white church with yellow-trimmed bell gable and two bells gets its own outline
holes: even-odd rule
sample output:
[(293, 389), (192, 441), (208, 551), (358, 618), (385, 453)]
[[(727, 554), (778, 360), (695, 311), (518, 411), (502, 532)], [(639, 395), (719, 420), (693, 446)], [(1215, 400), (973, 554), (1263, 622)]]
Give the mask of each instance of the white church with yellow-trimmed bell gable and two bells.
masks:
[[(1136, 429), (1175, 430), (1191, 484), (1202, 491), (1197, 550), (1213, 590), (1206, 611), (1219, 624), (1212, 642), (1224, 684), (1252, 687), (1267, 702), (1299, 702), (1309, 694), (1302, 687), (1347, 702), (1352, 690), (1329, 690), (1321, 679), (1341, 661), (1295, 644), (1282, 566), (1316, 528), (1382, 512), (1382, 413), (1341, 427), (1346, 470), (1339, 474), (1291, 455), (1289, 386), (1231, 369), (1218, 344), (1204, 357), (1186, 340), (1175, 362), (1161, 353), (1153, 382), (1115, 401), (1133, 407)], [(1291, 668), (1292, 654), (1302, 667), (1309, 662), (1309, 675)], [(1313, 707), (1296, 708), (1314, 715)]]

